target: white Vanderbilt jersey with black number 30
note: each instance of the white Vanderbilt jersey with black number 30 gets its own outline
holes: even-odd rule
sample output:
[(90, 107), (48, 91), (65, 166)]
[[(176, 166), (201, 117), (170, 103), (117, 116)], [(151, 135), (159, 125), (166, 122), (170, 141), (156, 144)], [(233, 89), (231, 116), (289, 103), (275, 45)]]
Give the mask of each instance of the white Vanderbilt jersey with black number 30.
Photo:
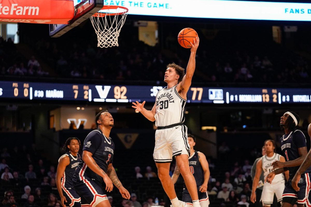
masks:
[(165, 87), (156, 95), (156, 114), (154, 117), (157, 127), (165, 127), (185, 121), (183, 110), (186, 100), (179, 96), (176, 86)]

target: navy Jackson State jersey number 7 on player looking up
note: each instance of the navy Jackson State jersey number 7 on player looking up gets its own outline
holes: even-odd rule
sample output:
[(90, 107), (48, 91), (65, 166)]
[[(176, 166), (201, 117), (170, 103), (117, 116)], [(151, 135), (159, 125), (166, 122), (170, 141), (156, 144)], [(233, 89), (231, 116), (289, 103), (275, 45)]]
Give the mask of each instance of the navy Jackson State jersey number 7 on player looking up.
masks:
[[(95, 129), (84, 140), (83, 151), (85, 150), (93, 154), (92, 157), (95, 162), (107, 173), (108, 165), (112, 163), (114, 158), (114, 142), (112, 139), (105, 137), (100, 129)], [(103, 178), (94, 173), (83, 161), (77, 167), (74, 178), (77, 179), (77, 177), (81, 181), (95, 179), (100, 183), (103, 182)]]

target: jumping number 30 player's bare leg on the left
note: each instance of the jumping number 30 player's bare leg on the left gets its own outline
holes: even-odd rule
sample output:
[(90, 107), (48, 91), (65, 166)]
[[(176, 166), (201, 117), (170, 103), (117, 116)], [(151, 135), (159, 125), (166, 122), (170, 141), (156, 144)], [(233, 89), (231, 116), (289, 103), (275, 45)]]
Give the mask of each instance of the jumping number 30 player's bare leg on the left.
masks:
[(156, 163), (158, 168), (158, 176), (162, 183), (163, 189), (170, 200), (176, 198), (176, 192), (174, 189), (174, 183), (169, 176), (170, 163)]

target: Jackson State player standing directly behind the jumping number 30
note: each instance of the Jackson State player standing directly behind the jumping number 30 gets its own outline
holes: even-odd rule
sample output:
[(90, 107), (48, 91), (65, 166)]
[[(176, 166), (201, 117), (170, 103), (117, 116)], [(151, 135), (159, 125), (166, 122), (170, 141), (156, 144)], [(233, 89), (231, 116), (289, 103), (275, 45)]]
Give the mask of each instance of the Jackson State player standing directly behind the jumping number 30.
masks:
[[(189, 166), (190, 172), (193, 174), (194, 179), (197, 183), (197, 194), (199, 196), (199, 202), (201, 207), (208, 207), (210, 204), (208, 194), (207, 194), (207, 184), (210, 179), (210, 169), (208, 168), (208, 162), (205, 155), (202, 152), (195, 151), (193, 146), (195, 146), (196, 138), (192, 134), (188, 134), (188, 143), (190, 146), (190, 157), (189, 157)], [(174, 184), (177, 182), (179, 177), (179, 168), (176, 165), (172, 180)], [(187, 207), (192, 207), (192, 200), (189, 195), (185, 183), (183, 183), (183, 197), (182, 201), (187, 203)]]

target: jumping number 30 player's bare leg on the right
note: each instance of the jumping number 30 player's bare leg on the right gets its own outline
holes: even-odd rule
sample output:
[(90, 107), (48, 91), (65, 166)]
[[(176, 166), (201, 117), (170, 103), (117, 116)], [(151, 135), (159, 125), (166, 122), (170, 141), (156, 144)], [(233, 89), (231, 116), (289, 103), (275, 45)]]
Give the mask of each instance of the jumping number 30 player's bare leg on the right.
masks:
[(199, 200), (197, 195), (197, 184), (189, 168), (188, 155), (177, 155), (176, 164), (180, 170), (181, 175), (183, 176), (183, 180), (185, 181), (192, 200)]

